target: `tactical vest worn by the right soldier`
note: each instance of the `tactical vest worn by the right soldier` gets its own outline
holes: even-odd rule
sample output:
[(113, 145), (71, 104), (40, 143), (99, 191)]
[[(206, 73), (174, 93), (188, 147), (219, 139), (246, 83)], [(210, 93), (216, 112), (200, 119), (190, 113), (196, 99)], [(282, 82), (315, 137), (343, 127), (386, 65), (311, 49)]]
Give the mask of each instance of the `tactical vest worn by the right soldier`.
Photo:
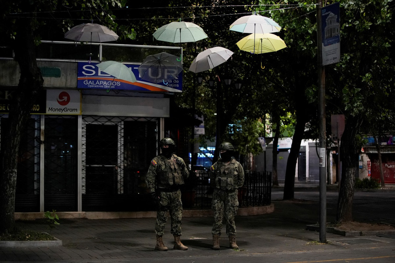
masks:
[(238, 174), (236, 160), (232, 159), (228, 164), (224, 164), (221, 161), (217, 162), (216, 168), (216, 188), (222, 190), (236, 189), (236, 178)]

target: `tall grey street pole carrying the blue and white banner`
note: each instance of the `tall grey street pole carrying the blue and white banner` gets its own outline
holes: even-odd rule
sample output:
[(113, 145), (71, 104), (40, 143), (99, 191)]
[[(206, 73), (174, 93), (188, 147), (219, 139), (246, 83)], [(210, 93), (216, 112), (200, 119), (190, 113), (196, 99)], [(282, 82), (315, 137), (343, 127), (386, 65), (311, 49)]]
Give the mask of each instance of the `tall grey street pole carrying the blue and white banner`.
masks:
[(320, 242), (326, 243), (326, 120), (325, 120), (325, 67), (322, 65), (322, 0), (317, 0), (317, 55), (318, 55), (318, 104), (320, 132)]

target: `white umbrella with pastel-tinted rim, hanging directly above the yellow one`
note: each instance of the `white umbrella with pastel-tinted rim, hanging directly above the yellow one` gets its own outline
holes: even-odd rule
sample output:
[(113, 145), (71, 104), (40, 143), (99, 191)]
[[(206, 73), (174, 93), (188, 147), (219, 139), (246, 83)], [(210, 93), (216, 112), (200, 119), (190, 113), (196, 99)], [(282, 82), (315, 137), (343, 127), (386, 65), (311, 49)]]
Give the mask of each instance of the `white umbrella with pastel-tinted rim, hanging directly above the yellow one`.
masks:
[(281, 26), (279, 26), (273, 19), (262, 15), (246, 15), (244, 17), (240, 17), (229, 26), (229, 30), (256, 34), (279, 32), (280, 29)]

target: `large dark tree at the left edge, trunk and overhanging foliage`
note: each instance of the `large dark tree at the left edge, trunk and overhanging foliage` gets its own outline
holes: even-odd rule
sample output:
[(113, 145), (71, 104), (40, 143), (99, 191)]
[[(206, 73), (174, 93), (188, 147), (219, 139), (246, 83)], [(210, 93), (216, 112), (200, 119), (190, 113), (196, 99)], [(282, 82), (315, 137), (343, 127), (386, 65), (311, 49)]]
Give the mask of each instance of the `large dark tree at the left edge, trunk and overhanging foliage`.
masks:
[[(13, 230), (15, 210), (15, 187), (17, 177), (17, 156), (21, 141), (21, 131), (30, 115), (30, 109), (38, 91), (43, 87), (41, 71), (37, 66), (35, 47), (40, 43), (43, 32), (64, 33), (73, 24), (73, 19), (85, 17), (100, 20), (114, 28), (111, 8), (122, 7), (124, 1), (114, 0), (110, 4), (104, 0), (51, 1), (6, 1), (2, 5), (0, 31), (6, 36), (2, 41), (15, 53), (21, 77), (13, 95), (8, 130), (2, 137), (0, 149), (0, 234)], [(68, 11), (66, 17), (64, 12)], [(70, 15), (71, 14), (71, 15)], [(51, 28), (51, 30), (49, 30)], [(120, 27), (127, 30), (127, 27)], [(124, 33), (124, 32), (122, 32)], [(60, 34), (53, 34), (53, 37)], [(61, 34), (62, 35), (62, 34)], [(132, 38), (133, 34), (127, 35)]]

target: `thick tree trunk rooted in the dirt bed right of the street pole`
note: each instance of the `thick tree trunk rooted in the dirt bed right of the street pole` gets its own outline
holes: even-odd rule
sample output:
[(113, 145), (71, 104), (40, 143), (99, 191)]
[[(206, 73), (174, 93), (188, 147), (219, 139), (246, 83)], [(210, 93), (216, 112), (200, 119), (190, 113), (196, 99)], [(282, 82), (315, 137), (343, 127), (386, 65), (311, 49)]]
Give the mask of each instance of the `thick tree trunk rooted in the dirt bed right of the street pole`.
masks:
[[(361, 128), (360, 116), (349, 116), (340, 144), (342, 173), (340, 178), (339, 199), (337, 202), (337, 222), (352, 221), (352, 200), (354, 198), (355, 175), (358, 168), (358, 145), (356, 135)], [(340, 164), (339, 164), (340, 165)]]

